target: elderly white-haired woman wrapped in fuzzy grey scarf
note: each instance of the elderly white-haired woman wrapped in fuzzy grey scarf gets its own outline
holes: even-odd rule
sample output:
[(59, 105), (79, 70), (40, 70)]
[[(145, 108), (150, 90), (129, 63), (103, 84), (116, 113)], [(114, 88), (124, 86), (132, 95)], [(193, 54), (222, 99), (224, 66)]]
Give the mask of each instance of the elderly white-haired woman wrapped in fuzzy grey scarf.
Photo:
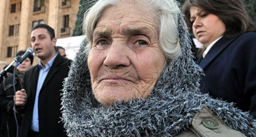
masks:
[(177, 5), (98, 0), (91, 7), (87, 40), (64, 82), (68, 136), (256, 136), (249, 113), (198, 92), (201, 70)]

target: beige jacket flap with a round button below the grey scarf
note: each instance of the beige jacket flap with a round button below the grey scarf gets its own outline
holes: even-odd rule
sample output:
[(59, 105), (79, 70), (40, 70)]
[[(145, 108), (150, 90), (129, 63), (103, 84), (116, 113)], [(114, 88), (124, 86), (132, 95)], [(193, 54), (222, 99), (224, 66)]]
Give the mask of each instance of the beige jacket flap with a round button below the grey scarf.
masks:
[(177, 137), (246, 137), (239, 131), (226, 126), (219, 117), (213, 115), (211, 110), (203, 105), (192, 121), (190, 130), (177, 135)]

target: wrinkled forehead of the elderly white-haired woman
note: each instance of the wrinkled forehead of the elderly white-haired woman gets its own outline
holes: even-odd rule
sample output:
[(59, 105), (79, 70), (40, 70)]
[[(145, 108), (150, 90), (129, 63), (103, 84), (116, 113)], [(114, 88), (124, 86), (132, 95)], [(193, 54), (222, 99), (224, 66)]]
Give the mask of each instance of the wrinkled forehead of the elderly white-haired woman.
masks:
[(158, 31), (158, 24), (152, 14), (137, 9), (131, 11), (125, 7), (129, 6), (122, 5), (106, 9), (96, 24), (94, 35), (109, 35), (114, 33), (113, 31), (119, 31), (122, 34)]

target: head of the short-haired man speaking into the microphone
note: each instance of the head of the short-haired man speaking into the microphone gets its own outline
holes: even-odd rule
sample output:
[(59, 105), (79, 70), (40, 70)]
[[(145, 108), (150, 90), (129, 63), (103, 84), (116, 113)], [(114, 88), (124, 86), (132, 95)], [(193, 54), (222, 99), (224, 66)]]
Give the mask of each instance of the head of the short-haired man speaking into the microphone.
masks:
[(50, 39), (50, 34), (45, 28), (34, 29), (31, 33), (31, 46), (34, 53), (41, 60), (49, 60), (55, 55), (56, 38)]

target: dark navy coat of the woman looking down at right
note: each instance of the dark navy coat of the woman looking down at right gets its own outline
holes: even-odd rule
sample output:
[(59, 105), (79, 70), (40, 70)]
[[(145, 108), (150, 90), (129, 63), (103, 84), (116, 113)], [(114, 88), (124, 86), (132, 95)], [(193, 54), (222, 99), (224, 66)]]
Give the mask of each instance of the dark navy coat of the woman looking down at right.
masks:
[(256, 33), (222, 37), (197, 64), (205, 73), (203, 92), (234, 102), (256, 118)]

